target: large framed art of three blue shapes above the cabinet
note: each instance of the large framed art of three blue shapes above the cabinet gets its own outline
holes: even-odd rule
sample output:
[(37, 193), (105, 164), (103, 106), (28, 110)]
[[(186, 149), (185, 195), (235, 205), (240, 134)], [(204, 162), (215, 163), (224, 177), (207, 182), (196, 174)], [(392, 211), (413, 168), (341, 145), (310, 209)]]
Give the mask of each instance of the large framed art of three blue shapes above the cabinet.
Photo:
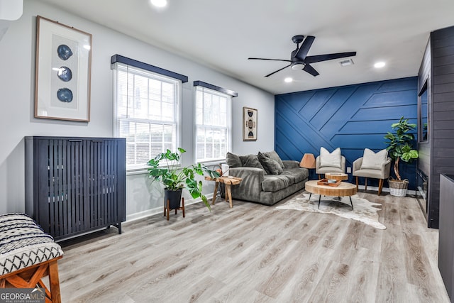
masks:
[(92, 35), (42, 16), (36, 24), (35, 118), (88, 122)]

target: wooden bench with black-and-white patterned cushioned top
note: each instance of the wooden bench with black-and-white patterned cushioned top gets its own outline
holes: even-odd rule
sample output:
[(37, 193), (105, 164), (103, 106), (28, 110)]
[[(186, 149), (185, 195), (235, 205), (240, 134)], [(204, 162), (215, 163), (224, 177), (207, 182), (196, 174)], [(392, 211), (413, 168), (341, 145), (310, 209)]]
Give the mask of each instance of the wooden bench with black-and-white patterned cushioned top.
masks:
[[(60, 303), (57, 260), (62, 248), (25, 214), (0, 215), (0, 288), (45, 290), (45, 302)], [(43, 277), (49, 277), (49, 287)]]

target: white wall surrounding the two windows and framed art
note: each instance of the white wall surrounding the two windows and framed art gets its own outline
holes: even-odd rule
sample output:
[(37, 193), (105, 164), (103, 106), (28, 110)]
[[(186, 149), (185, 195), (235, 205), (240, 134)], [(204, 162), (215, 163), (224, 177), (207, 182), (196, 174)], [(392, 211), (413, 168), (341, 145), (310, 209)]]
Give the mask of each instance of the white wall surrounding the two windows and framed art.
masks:
[[(35, 33), (40, 15), (92, 33), (92, 94), (89, 123), (35, 119)], [(183, 85), (182, 148), (188, 150), (183, 164), (193, 156), (194, 94), (192, 82), (201, 80), (238, 92), (233, 98), (233, 153), (258, 153), (274, 148), (274, 96), (227, 77), (196, 62), (123, 35), (65, 11), (24, 1), (23, 16), (11, 23), (0, 40), (0, 214), (24, 211), (24, 136), (113, 136), (111, 55), (118, 54), (187, 75)], [(258, 109), (258, 141), (243, 141), (242, 108)], [(150, 186), (147, 175), (128, 175), (126, 180), (128, 219), (161, 211), (160, 190)], [(212, 184), (204, 192), (210, 194)]]

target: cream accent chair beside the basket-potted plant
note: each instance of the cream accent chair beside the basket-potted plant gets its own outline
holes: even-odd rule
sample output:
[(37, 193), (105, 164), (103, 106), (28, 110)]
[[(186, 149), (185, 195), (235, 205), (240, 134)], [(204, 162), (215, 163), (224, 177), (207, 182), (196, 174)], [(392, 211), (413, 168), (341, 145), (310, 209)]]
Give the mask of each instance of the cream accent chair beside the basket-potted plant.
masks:
[(383, 181), (389, 178), (391, 171), (391, 158), (387, 150), (380, 150), (374, 153), (372, 150), (365, 148), (364, 155), (353, 161), (353, 176), (356, 177), (356, 190), (358, 190), (358, 177), (365, 178), (365, 190), (367, 190), (367, 178), (380, 180), (378, 183), (378, 195), (382, 193)]

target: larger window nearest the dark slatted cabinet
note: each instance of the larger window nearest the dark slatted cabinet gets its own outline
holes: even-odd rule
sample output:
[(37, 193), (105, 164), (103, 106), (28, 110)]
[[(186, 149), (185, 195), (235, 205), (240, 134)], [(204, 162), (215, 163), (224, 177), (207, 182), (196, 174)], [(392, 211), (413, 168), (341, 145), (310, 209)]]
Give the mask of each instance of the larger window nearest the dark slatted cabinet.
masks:
[(114, 71), (115, 133), (126, 138), (126, 168), (144, 168), (158, 153), (179, 146), (182, 81), (118, 61)]

